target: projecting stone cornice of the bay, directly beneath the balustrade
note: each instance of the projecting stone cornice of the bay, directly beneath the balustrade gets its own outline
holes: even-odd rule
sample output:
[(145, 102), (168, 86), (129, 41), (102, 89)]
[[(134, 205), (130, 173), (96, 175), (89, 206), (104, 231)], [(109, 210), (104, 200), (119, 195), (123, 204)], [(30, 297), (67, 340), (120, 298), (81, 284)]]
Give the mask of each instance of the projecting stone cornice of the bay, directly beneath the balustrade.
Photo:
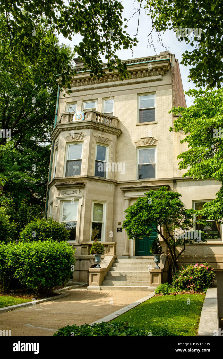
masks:
[(76, 121), (76, 122), (66, 122), (66, 123), (57, 123), (56, 127), (53, 129), (51, 138), (53, 141), (57, 139), (60, 132), (63, 131), (78, 131), (78, 130), (86, 130), (93, 129), (101, 132), (105, 132), (110, 135), (115, 135), (119, 137), (122, 134), (122, 130), (112, 127), (110, 125), (106, 125), (105, 123), (100, 123), (97, 121)]

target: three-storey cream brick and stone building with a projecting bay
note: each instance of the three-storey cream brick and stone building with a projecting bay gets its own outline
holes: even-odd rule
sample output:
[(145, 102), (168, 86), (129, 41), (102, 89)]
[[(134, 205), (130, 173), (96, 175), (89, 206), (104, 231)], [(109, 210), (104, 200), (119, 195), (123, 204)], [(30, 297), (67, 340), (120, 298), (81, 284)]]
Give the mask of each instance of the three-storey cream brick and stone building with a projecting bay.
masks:
[[(59, 93), (46, 210), (72, 229), (77, 281), (87, 281), (94, 238), (117, 258), (151, 254), (147, 238), (135, 243), (122, 229), (123, 211), (148, 190), (167, 186), (181, 193), (186, 208), (199, 209), (220, 188), (214, 180), (182, 178), (178, 168), (187, 145), (180, 144), (183, 132), (169, 131), (174, 117), (168, 112), (186, 102), (175, 55), (125, 62), (130, 79), (121, 81), (106, 65), (103, 78), (91, 78), (77, 61), (72, 94)], [(222, 225), (212, 221), (207, 230), (209, 242), (188, 246), (181, 261), (212, 256), (223, 269)]]

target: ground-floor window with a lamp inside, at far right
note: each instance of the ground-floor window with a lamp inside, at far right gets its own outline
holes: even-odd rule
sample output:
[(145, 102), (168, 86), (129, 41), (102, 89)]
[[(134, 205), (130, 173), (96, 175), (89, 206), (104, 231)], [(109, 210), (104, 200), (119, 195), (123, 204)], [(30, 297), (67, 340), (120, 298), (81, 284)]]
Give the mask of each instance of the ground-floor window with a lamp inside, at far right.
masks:
[[(208, 201), (199, 201), (199, 202), (193, 202), (193, 208), (195, 210), (201, 210), (203, 208), (204, 203), (206, 203)], [(194, 229), (198, 229), (198, 230), (202, 230), (203, 232), (207, 232), (208, 234), (208, 240), (215, 240), (215, 241), (219, 241), (221, 239), (221, 233), (220, 233), (220, 222), (218, 222), (217, 220), (207, 220), (207, 224), (202, 225), (202, 224), (198, 224), (196, 223), (196, 220), (200, 220), (200, 219), (204, 219), (206, 220), (206, 216), (202, 216), (202, 215), (198, 215), (195, 217), (195, 228)]]

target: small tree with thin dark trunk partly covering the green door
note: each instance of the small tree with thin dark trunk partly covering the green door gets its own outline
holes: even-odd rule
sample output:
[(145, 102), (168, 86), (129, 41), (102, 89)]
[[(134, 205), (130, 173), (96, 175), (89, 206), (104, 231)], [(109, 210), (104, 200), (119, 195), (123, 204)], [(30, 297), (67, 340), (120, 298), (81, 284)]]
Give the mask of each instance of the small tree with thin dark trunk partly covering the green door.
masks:
[[(185, 251), (185, 244), (193, 244), (194, 232), (190, 231), (193, 230), (195, 211), (186, 209), (180, 200), (181, 194), (170, 192), (167, 187), (160, 187), (156, 191), (145, 193), (145, 195), (145, 197), (139, 197), (132, 206), (125, 210), (127, 214), (122, 227), (125, 228), (129, 238), (134, 240), (138, 240), (140, 237), (149, 237), (152, 229), (155, 230), (168, 246), (173, 269), (176, 271), (178, 269), (177, 260)], [(154, 223), (157, 224), (156, 228), (152, 226)], [(198, 221), (198, 223), (204, 224), (205, 221)], [(193, 237), (191, 233), (193, 233)], [(201, 234), (202, 236), (195, 238), (206, 242), (205, 234)], [(183, 247), (179, 252), (176, 250), (178, 246)]]

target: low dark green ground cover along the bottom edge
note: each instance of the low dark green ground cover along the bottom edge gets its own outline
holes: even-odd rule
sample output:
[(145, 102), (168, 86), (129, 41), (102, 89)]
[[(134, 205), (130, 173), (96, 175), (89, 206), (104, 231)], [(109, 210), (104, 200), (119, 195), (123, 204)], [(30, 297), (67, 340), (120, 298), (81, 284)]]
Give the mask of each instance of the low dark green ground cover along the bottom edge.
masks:
[[(138, 335), (151, 335), (151, 332), (146, 329), (140, 329), (134, 325), (123, 322), (109, 322), (109, 323), (95, 323), (92, 326), (84, 324), (81, 326), (67, 325), (66, 327), (60, 328), (58, 332), (54, 333), (55, 336), (138, 336)], [(172, 335), (165, 329), (153, 330), (152, 335)]]

